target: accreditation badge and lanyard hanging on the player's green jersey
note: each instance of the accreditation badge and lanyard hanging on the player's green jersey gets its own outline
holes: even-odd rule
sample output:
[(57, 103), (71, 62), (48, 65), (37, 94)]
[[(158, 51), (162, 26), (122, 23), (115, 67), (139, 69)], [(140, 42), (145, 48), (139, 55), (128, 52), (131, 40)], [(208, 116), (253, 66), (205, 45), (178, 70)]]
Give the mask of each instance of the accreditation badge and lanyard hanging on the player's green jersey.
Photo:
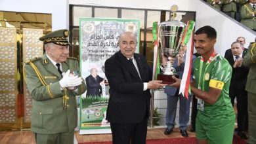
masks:
[[(215, 56), (216, 56), (216, 54), (214, 51), (213, 54), (211, 54), (209, 60), (207, 60), (205, 69), (203, 69), (203, 57), (201, 56), (200, 69), (199, 69), (199, 81), (198, 81), (198, 89), (199, 90), (204, 90), (205, 80), (209, 81), (209, 73), (205, 74), (205, 71), (207, 70), (209, 63), (211, 63), (213, 61)], [(202, 74), (203, 74), (203, 78), (205, 77), (205, 75), (207, 75), (208, 79), (202, 79)], [(200, 99), (200, 98), (198, 98), (198, 110), (204, 111), (204, 101), (203, 101), (203, 99)]]

